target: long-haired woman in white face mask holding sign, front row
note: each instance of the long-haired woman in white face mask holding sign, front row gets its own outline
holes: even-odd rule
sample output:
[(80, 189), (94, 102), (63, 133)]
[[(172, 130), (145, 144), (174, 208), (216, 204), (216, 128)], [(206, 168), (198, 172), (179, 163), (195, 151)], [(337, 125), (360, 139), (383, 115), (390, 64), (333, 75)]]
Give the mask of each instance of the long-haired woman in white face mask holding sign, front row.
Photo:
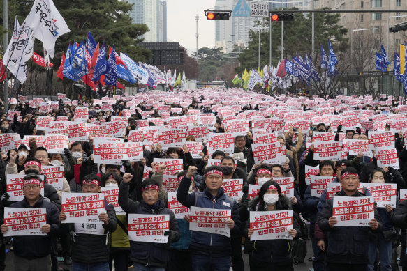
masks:
[[(290, 199), (281, 195), (281, 187), (274, 181), (267, 181), (262, 185), (258, 196), (251, 201), (249, 209), (253, 211), (291, 210)], [(281, 221), (282, 222), (282, 221)], [(253, 221), (246, 222), (245, 233), (247, 237), (253, 235), (255, 229), (251, 228)], [(279, 229), (284, 224), (270, 224), (267, 229)], [(283, 234), (283, 232), (281, 232)], [(288, 229), (291, 238), (301, 235), (299, 226), (294, 220), (293, 229)], [(287, 239), (256, 240), (251, 242), (250, 268), (251, 270), (293, 270), (291, 249), (293, 243)]]

